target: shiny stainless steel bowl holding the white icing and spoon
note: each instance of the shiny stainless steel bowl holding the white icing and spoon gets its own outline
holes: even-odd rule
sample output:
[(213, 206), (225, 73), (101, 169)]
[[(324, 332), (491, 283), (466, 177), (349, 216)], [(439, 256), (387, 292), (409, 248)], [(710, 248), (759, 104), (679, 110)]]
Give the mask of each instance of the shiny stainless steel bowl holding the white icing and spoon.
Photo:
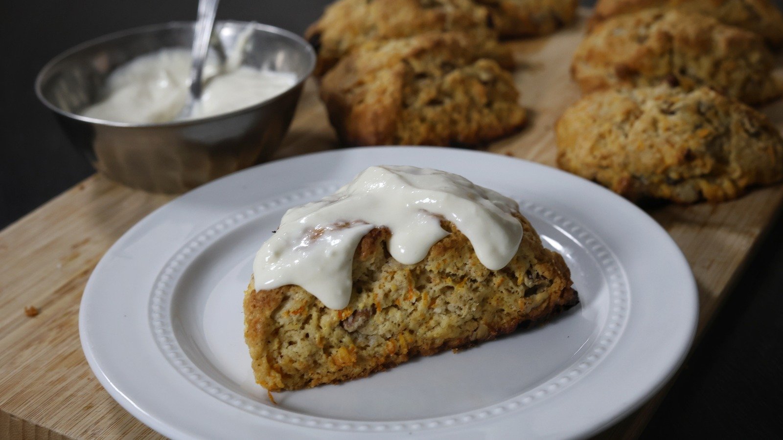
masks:
[[(247, 40), (242, 32), (251, 27)], [(99, 99), (106, 77), (137, 56), (189, 49), (193, 23), (139, 27), (87, 41), (49, 62), (35, 91), (70, 141), (111, 179), (162, 193), (180, 193), (269, 158), (288, 130), (305, 79), (316, 63), (312, 47), (289, 31), (258, 23), (215, 24), (212, 45), (230, 53), (244, 44), (243, 65), (296, 74), (296, 84), (254, 106), (164, 124), (124, 124), (77, 114)]]

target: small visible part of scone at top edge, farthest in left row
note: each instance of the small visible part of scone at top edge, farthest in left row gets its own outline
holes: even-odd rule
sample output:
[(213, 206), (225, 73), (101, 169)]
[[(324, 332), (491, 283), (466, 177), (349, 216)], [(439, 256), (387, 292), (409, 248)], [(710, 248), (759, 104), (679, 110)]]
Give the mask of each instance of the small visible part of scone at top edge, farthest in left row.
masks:
[(578, 0), (475, 0), (489, 9), (501, 37), (546, 35), (576, 19)]

